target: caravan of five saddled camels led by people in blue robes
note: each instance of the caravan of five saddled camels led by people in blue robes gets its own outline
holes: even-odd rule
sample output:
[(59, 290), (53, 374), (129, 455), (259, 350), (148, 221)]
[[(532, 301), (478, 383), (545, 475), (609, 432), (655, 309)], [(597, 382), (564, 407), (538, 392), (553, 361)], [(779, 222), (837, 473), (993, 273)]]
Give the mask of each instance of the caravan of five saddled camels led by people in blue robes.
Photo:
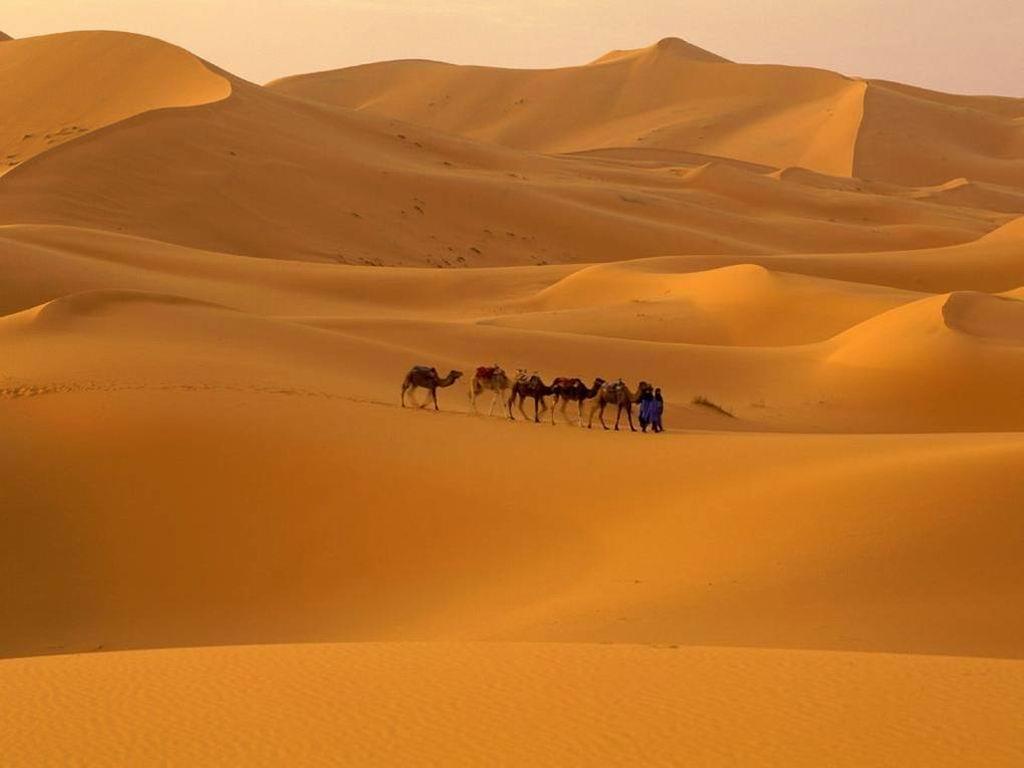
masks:
[[(450, 371), (447, 376), (441, 377), (437, 369), (428, 366), (414, 366), (401, 383), (401, 407), (406, 407), (406, 393), (410, 393), (413, 399), (413, 392), (416, 389), (426, 389), (430, 392), (430, 400), (434, 403), (434, 410), (439, 411), (437, 406), (437, 390), (450, 387), (462, 378), (462, 371)], [(540, 374), (529, 374), (525, 369), (519, 369), (514, 378), (510, 378), (501, 366), (481, 366), (476, 369), (473, 378), (469, 382), (469, 401), (473, 408), (473, 413), (479, 413), (476, 407), (476, 398), (484, 392), (490, 392), (490, 407), (487, 409), (487, 416), (493, 416), (495, 406), (499, 401), (507, 412), (508, 418), (515, 421), (512, 407), (516, 406), (523, 419), (529, 419), (523, 409), (523, 402), (529, 398), (534, 400), (534, 421), (540, 423), (541, 415), (545, 412), (551, 413), (551, 423), (555, 423), (555, 413), (562, 415), (563, 421), (571, 423), (565, 413), (570, 402), (577, 404), (577, 424), (584, 426), (584, 403), (593, 400), (590, 408), (590, 415), (587, 419), (587, 428), (594, 425), (594, 415), (604, 429), (612, 428), (618, 430), (623, 412), (626, 413), (626, 420), (630, 430), (636, 431), (633, 425), (633, 406), (640, 407), (639, 420), (640, 428), (646, 432), (647, 427), (653, 432), (662, 430), (662, 413), (665, 404), (662, 398), (662, 390), (655, 388), (646, 381), (641, 381), (636, 390), (631, 390), (625, 381), (605, 381), (604, 379), (594, 379), (594, 383), (587, 386), (582, 379), (559, 377), (550, 384), (545, 384)], [(551, 407), (548, 407), (547, 398), (552, 398)], [(425, 408), (428, 401), (424, 401), (419, 408)], [(415, 400), (414, 400), (415, 404)], [(615, 423), (613, 427), (608, 427), (604, 421), (604, 411), (608, 407), (615, 409)]]

